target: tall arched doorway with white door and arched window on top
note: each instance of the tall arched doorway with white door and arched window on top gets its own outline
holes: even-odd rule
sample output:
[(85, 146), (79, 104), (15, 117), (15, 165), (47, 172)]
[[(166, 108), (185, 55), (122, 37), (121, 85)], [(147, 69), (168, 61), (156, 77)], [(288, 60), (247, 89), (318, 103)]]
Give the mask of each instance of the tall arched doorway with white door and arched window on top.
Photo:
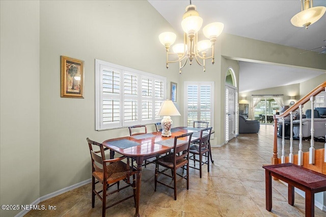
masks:
[(225, 143), (238, 135), (238, 91), (233, 69), (228, 68), (225, 78)]

